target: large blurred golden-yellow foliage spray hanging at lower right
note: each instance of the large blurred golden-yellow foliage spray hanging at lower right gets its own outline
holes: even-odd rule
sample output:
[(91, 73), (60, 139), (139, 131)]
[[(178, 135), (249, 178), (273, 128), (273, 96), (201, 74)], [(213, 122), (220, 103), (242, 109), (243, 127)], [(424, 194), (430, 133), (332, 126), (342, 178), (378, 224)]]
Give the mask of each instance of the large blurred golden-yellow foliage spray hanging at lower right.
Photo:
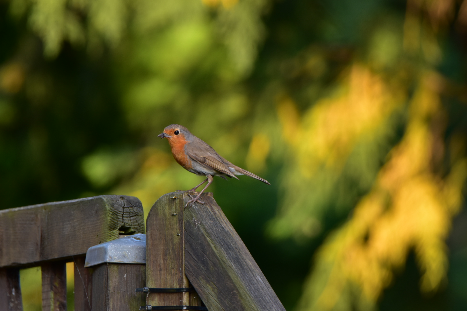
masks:
[[(373, 301), (414, 249), (422, 270), (421, 290), (436, 290), (446, 276), (446, 246), (451, 219), (461, 201), (467, 174), (461, 159), (445, 180), (431, 172), (431, 122), (441, 112), (436, 76), (424, 75), (410, 103), (402, 141), (390, 153), (373, 190), (355, 207), (354, 215), (328, 239), (318, 255), (318, 266), (332, 266), (320, 292), (313, 276), (300, 310), (338, 310), (346, 284), (357, 284), (361, 299)], [(319, 273), (316, 271), (315, 273)]]

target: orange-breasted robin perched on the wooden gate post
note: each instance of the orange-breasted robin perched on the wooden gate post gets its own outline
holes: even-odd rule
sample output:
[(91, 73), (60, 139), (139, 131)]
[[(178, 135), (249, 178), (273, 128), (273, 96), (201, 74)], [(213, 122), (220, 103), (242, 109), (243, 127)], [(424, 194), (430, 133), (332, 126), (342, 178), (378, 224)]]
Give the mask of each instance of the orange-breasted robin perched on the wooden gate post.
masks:
[(207, 177), (198, 186), (188, 190), (196, 191), (199, 186), (203, 185), (207, 181), (207, 185), (203, 190), (201, 190), (198, 196), (189, 200), (185, 207), (195, 201), (204, 203), (199, 200), (199, 197), (206, 188), (211, 185), (213, 176), (219, 176), (226, 180), (227, 177), (238, 179), (236, 175), (247, 175), (270, 185), (267, 180), (262, 179), (241, 167), (233, 165), (226, 159), (222, 158), (210, 145), (191, 134), (191, 132), (182, 125), (170, 124), (164, 129), (163, 133), (157, 135), (157, 137), (167, 138), (167, 140), (169, 140), (170, 149), (172, 150), (175, 160), (178, 164), (183, 166), (184, 169), (191, 173), (205, 175)]

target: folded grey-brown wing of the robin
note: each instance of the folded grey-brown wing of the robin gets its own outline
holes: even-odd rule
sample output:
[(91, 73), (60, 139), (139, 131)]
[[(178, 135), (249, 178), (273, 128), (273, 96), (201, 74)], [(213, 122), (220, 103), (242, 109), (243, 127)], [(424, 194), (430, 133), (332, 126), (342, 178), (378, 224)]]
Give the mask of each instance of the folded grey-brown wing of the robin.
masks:
[[(199, 138), (198, 138), (199, 139)], [(204, 141), (199, 139), (196, 144), (191, 142), (185, 145), (187, 155), (201, 165), (209, 166), (216, 171), (224, 173), (238, 179), (224, 162), (223, 158), (215, 152), (214, 149)]]

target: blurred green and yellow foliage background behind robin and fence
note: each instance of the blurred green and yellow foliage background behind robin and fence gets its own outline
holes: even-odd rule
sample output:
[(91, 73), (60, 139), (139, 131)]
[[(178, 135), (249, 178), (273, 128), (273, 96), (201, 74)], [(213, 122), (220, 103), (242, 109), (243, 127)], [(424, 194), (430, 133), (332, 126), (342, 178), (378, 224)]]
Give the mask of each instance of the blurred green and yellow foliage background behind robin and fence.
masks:
[(183, 124), (271, 182), (209, 191), (288, 311), (467, 309), (467, 0), (1, 0), (0, 34), (0, 208), (147, 214), (202, 180)]

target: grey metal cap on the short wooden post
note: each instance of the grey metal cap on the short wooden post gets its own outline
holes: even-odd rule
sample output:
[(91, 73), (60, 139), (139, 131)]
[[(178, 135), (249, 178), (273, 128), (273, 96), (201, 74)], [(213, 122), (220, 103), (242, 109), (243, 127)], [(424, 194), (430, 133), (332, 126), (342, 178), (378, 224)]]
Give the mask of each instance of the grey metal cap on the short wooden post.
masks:
[(146, 235), (138, 233), (90, 247), (85, 267), (99, 263), (146, 263)]

